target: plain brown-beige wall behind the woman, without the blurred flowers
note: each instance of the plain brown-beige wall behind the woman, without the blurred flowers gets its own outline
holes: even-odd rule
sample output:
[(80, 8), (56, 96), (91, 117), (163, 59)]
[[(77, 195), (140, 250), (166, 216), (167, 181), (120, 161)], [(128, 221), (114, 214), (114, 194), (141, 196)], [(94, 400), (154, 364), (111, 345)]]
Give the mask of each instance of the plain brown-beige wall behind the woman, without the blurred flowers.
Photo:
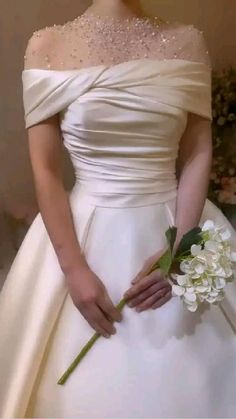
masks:
[[(35, 29), (79, 15), (89, 0), (0, 0), (0, 209), (19, 218), (32, 214), (35, 199), (24, 130), (21, 71), (27, 39)], [(236, 61), (235, 0), (145, 0), (164, 18), (194, 23), (206, 36), (216, 67)], [(66, 160), (66, 184), (73, 181)]]

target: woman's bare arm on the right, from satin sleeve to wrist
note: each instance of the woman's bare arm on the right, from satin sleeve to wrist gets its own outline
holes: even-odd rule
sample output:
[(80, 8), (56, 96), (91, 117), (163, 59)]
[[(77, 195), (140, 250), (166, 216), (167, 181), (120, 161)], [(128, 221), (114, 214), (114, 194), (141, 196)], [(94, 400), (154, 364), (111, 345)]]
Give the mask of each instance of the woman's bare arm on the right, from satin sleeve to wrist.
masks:
[(208, 193), (211, 164), (211, 121), (189, 113), (177, 159), (178, 194), (175, 225), (178, 232), (174, 250), (183, 234), (199, 225)]

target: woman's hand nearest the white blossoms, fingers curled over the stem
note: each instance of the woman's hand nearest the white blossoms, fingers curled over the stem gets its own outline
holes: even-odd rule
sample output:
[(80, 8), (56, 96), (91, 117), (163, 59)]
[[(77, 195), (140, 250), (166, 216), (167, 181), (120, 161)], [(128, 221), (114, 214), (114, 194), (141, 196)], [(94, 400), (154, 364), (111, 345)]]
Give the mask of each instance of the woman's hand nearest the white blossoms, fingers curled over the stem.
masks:
[(127, 305), (138, 312), (161, 307), (172, 297), (172, 287), (160, 269), (147, 275), (163, 253), (163, 250), (159, 251), (146, 260), (141, 271), (132, 280), (133, 285), (124, 294)]

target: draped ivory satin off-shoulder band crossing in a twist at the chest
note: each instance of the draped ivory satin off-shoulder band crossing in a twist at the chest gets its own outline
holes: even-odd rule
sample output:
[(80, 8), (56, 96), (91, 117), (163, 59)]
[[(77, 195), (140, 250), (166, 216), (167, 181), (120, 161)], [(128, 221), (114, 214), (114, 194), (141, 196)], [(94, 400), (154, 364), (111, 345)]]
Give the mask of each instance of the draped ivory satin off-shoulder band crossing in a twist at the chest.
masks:
[(145, 58), (79, 70), (28, 69), (22, 72), (22, 81), (26, 128), (102, 87), (134, 92), (137, 88), (137, 94), (145, 88), (145, 94), (160, 103), (212, 119), (211, 70), (200, 62)]

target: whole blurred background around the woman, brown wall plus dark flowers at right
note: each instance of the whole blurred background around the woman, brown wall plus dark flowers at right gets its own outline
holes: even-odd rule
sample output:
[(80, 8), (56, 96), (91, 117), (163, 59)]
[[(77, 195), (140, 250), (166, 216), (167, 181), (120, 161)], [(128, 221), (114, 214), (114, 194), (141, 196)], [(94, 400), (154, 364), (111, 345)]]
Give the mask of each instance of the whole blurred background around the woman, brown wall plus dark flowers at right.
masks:
[[(38, 212), (24, 128), (21, 72), (33, 31), (74, 19), (89, 0), (0, 0), (0, 288)], [(236, 224), (236, 0), (145, 0), (145, 10), (203, 30), (213, 63), (209, 198)], [(65, 151), (65, 186), (74, 182)], [(235, 226), (236, 227), (236, 226)]]

